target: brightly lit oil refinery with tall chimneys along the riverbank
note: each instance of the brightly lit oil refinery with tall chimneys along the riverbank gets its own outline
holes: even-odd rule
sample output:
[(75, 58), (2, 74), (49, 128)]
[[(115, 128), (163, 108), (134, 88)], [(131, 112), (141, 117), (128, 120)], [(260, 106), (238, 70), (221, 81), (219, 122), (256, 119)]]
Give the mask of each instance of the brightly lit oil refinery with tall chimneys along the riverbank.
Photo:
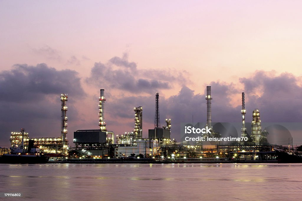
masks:
[[(212, 125), (211, 86), (206, 88), (207, 122), (204, 127), (210, 128), (210, 133), (203, 133), (201, 137), (221, 137), (221, 133), (215, 131)], [(203, 144), (203, 142), (177, 142), (171, 138), (172, 121), (165, 118), (165, 125), (161, 127), (159, 114), (159, 93), (155, 95), (154, 128), (148, 129), (148, 137), (143, 137), (143, 107), (133, 108), (133, 130), (115, 134), (107, 129), (105, 123), (105, 92), (100, 90), (98, 99), (99, 129), (76, 130), (73, 133), (74, 147), (68, 147), (67, 140), (67, 94), (61, 94), (61, 136), (60, 137), (36, 137), (30, 138), (29, 133), (23, 133), (24, 146), (28, 146), (30, 140), (34, 146), (44, 153), (59, 154), (75, 159), (123, 159), (129, 157), (149, 158), (153, 160), (272, 160), (276, 159), (275, 149), (284, 149), (283, 146), (271, 145), (267, 141), (268, 132), (262, 130), (260, 111), (252, 112), (251, 133), (246, 130), (245, 94), (242, 93), (242, 128), (241, 137), (248, 140), (215, 144)], [(240, 113), (239, 113), (240, 114)], [(112, 130), (112, 129), (110, 129)], [(12, 132), (11, 146), (18, 146), (22, 141), (21, 132)], [(53, 155), (53, 156), (59, 156)]]

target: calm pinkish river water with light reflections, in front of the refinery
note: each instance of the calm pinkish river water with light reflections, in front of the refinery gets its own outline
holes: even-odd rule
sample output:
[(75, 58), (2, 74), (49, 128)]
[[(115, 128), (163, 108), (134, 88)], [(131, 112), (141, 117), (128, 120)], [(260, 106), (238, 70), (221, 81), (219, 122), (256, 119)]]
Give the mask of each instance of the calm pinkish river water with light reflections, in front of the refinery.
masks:
[(291, 200), (302, 164), (0, 164), (27, 200)]

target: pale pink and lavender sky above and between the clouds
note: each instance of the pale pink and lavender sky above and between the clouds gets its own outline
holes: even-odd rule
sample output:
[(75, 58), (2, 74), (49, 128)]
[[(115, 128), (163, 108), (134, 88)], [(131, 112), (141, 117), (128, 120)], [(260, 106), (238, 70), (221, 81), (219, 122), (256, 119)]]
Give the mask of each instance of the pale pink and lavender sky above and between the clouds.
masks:
[[(239, 78), (252, 77), (256, 70), (274, 71), (274, 76), (288, 72), (299, 80), (301, 8), (301, 1), (4, 0), (0, 2), (0, 71), (9, 71), (14, 64), (46, 63), (57, 70), (79, 72), (87, 104), (75, 103), (85, 117), (77, 122), (82, 129), (97, 128), (94, 98), (103, 87), (91, 86), (85, 79), (95, 62), (106, 64), (125, 52), (127, 61), (136, 63), (141, 73), (186, 71), (185, 85), (195, 94), (202, 94), (211, 81), (234, 83), (241, 91)], [(161, 90), (161, 97), (177, 95), (181, 87), (174, 83)], [(121, 92), (106, 89), (105, 93), (116, 97)], [(240, 96), (230, 96), (230, 105), (239, 105)], [(128, 121), (129, 130), (132, 118)]]

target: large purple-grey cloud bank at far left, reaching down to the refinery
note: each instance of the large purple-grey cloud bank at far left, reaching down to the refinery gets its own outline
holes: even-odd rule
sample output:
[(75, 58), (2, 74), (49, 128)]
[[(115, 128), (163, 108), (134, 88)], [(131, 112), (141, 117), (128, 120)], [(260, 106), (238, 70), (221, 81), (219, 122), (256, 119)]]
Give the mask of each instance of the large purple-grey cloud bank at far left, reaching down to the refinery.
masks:
[(76, 71), (58, 71), (46, 64), (17, 64), (0, 72), (0, 146), (8, 145), (10, 133), (22, 127), (30, 137), (59, 137), (60, 94), (69, 95), (70, 121), (78, 116), (76, 99), (85, 95), (77, 75)]

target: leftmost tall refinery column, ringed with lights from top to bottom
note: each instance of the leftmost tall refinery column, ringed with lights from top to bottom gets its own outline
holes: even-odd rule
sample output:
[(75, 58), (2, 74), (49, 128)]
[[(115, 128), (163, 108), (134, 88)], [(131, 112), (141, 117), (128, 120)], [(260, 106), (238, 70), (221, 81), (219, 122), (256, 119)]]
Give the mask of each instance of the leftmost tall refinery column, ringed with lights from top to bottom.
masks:
[(63, 146), (63, 154), (67, 154), (67, 140), (66, 140), (66, 134), (67, 134), (67, 117), (66, 117), (66, 111), (67, 106), (66, 102), (68, 99), (67, 94), (61, 94), (61, 138), (62, 138), (62, 146)]

